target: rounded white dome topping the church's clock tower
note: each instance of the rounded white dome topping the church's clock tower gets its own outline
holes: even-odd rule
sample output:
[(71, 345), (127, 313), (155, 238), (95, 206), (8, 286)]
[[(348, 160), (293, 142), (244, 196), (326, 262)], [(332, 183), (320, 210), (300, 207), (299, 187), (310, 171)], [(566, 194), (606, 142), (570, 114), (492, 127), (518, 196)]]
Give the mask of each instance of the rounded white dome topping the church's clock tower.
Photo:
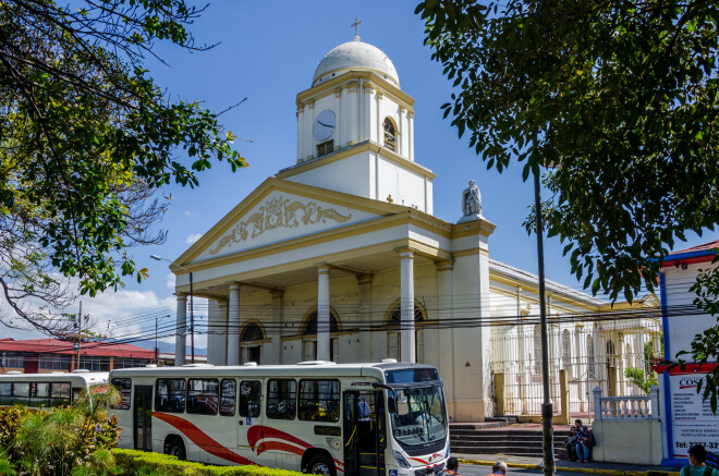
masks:
[(322, 61), (315, 70), (312, 85), (315, 86), (331, 77), (339, 76), (348, 71), (374, 71), (385, 80), (400, 87), (400, 78), (397, 75), (394, 64), (387, 54), (377, 47), (360, 41), (344, 42), (325, 54)]

